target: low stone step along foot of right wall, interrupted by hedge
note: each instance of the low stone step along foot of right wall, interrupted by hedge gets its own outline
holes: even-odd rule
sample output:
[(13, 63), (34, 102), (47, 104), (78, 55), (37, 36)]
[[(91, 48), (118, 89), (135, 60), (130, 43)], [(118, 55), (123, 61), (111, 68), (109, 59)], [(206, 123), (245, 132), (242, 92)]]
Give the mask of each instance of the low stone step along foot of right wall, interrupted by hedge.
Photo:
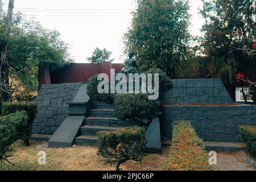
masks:
[[(163, 140), (163, 146), (171, 146), (171, 140)], [(205, 150), (216, 152), (234, 152), (246, 149), (245, 143), (232, 143), (232, 142), (203, 142)]]

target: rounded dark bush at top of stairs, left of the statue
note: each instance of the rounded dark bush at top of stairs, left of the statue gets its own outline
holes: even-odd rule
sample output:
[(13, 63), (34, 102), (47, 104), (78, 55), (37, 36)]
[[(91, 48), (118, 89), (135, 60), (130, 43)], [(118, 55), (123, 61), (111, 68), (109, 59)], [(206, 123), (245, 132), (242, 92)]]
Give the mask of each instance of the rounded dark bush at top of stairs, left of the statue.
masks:
[(90, 77), (88, 86), (87, 86), (87, 94), (91, 100), (97, 102), (104, 102), (106, 104), (113, 104), (114, 94), (110, 93), (110, 83), (109, 84), (109, 93), (98, 93), (97, 87), (101, 81), (97, 80), (98, 75), (94, 75)]

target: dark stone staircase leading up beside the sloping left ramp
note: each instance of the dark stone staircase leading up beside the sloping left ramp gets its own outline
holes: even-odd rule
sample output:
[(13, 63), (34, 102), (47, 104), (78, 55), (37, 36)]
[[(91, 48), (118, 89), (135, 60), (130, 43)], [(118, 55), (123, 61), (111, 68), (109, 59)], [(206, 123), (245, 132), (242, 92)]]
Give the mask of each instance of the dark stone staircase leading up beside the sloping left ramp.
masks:
[(122, 127), (133, 126), (126, 121), (119, 121), (114, 117), (114, 109), (111, 105), (93, 102), (92, 109), (86, 115), (75, 143), (80, 146), (97, 146), (98, 131), (120, 130)]

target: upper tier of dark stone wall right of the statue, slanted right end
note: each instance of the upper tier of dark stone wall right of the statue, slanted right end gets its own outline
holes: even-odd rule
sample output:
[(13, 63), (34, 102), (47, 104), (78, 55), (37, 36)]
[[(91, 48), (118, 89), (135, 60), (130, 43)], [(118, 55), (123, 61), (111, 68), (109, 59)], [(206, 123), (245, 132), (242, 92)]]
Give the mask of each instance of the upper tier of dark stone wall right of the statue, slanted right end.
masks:
[(232, 104), (220, 79), (172, 80), (174, 87), (162, 93), (162, 101), (170, 104)]

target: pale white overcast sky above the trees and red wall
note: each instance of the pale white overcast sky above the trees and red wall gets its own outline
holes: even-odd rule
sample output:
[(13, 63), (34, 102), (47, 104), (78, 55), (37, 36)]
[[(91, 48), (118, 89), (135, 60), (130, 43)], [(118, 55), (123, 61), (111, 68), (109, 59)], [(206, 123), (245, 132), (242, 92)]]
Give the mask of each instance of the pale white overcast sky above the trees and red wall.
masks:
[[(4, 0), (7, 2), (7, 0)], [(198, 14), (201, 0), (191, 0), (192, 35), (200, 35), (203, 24)], [(7, 7), (7, 5), (5, 5)], [(76, 63), (86, 63), (96, 47), (113, 52), (114, 63), (122, 63), (122, 36), (131, 22), (134, 0), (16, 0), (15, 10), (35, 15), (47, 28), (55, 28), (71, 44)]]

